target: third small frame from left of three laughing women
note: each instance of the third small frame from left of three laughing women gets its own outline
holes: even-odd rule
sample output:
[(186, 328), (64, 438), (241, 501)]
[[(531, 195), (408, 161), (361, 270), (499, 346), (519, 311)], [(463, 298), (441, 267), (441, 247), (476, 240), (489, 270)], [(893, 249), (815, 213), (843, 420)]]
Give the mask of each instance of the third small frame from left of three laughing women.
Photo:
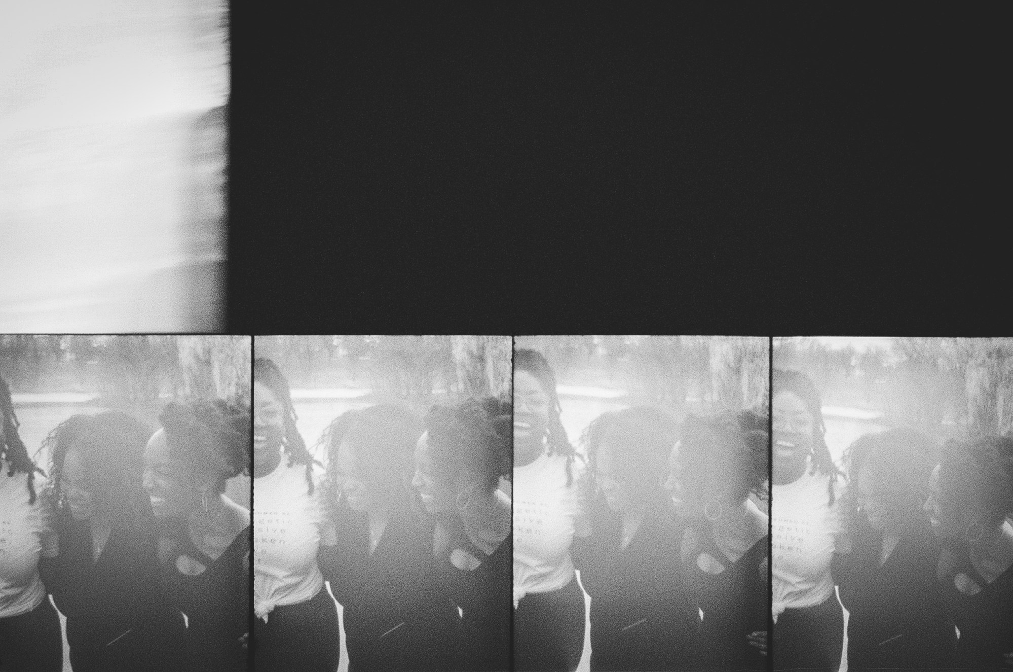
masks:
[(767, 668), (769, 343), (515, 339), (515, 669)]

